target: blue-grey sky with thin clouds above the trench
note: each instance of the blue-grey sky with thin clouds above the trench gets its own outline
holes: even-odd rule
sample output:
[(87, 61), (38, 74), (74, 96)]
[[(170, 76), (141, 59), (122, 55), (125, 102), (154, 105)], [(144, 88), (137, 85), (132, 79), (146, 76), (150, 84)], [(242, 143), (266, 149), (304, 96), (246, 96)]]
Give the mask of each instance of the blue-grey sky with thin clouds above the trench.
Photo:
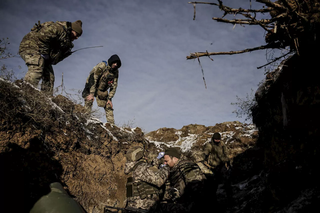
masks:
[[(189, 1), (189, 0), (188, 0)], [(0, 5), (0, 37), (9, 37), (16, 53), (25, 34), (38, 20), (82, 20), (83, 34), (73, 43), (80, 50), (53, 66), (55, 87), (63, 81), (67, 91), (83, 90), (89, 72), (102, 60), (117, 54), (122, 60), (113, 98), (115, 122), (134, 120), (145, 131), (188, 124), (215, 125), (238, 120), (232, 111), (236, 95), (245, 97), (264, 78), (266, 51), (200, 58), (207, 89), (197, 60), (190, 52), (236, 51), (264, 45), (264, 30), (212, 20), (221, 17), (218, 7), (186, 0), (4, 0)], [(211, 1), (216, 2), (216, 1)], [(249, 8), (249, 0), (226, 0), (225, 5)], [(262, 4), (252, 1), (253, 8)], [(232, 18), (232, 17), (231, 17)], [(212, 43), (212, 44), (211, 44)], [(17, 57), (1, 61), (22, 78), (27, 66)], [(94, 102), (94, 107), (97, 107)], [(101, 111), (104, 111), (101, 108)], [(106, 122), (103, 116), (100, 118)]]

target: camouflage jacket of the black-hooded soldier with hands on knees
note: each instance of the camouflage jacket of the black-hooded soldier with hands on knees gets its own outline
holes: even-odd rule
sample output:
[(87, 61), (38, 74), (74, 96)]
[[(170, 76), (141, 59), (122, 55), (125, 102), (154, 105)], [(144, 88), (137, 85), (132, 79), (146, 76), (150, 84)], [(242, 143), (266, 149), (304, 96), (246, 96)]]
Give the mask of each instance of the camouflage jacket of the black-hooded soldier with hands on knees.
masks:
[[(93, 94), (97, 101), (107, 101), (113, 98), (118, 86), (119, 70), (110, 72), (111, 67), (107, 62), (100, 62), (91, 70), (83, 92), (83, 97)], [(108, 89), (110, 91), (108, 93)]]

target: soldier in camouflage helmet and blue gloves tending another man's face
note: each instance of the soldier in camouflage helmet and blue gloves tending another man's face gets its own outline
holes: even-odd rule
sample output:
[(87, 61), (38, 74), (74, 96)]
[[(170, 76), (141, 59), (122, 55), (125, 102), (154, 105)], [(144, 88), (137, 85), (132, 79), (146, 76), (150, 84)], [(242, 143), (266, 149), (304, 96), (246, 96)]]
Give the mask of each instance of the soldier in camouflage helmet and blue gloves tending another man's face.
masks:
[[(153, 160), (159, 164), (164, 153)], [(128, 175), (126, 184), (126, 206), (145, 210), (155, 210), (162, 193), (162, 186), (169, 177), (170, 169), (164, 166), (156, 169), (146, 162), (144, 148), (134, 146), (127, 151), (124, 173)]]

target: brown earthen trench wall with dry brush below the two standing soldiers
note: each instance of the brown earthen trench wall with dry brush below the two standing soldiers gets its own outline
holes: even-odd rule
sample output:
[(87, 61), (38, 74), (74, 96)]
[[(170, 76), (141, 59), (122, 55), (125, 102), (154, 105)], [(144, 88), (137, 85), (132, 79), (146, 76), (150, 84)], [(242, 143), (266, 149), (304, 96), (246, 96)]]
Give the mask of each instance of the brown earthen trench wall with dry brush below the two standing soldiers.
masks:
[[(67, 98), (49, 99), (22, 81), (0, 81), (0, 89), (5, 210), (14, 205), (17, 212), (28, 212), (55, 181), (87, 212), (122, 206), (125, 153), (133, 145), (145, 146), (140, 128), (84, 117)], [(17, 193), (22, 196), (18, 206), (12, 203)]]

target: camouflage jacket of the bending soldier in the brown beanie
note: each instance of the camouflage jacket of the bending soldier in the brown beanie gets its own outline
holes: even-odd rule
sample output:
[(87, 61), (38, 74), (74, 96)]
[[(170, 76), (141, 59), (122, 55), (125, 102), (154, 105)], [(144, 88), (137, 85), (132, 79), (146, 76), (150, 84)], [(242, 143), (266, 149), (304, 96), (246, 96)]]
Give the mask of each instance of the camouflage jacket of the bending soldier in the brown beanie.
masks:
[(30, 54), (48, 54), (50, 64), (57, 64), (71, 54), (74, 47), (70, 39), (71, 22), (44, 22), (40, 27), (34, 27), (25, 35), (20, 43), (19, 52)]

